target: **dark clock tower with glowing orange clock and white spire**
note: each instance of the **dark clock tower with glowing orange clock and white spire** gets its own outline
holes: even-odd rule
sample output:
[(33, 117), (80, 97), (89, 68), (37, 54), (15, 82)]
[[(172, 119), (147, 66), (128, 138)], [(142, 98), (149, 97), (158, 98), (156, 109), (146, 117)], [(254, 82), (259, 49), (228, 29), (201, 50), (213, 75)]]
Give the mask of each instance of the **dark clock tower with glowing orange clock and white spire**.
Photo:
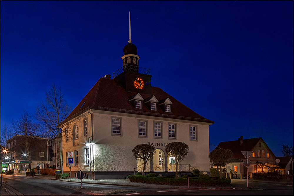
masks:
[(131, 14), (129, 16), (129, 41), (123, 48), (123, 66), (113, 73), (113, 79), (118, 80), (126, 91), (151, 94), (150, 69), (139, 68), (137, 47), (131, 40)]

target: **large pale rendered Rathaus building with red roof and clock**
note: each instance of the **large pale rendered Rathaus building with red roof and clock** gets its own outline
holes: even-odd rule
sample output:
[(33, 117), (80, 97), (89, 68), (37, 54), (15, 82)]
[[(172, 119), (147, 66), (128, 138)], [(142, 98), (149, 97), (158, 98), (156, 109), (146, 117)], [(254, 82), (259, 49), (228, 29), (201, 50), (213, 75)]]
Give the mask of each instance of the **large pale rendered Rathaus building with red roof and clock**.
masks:
[[(72, 172), (82, 170), (90, 176), (92, 170), (95, 179), (125, 177), (142, 169), (143, 162), (132, 153), (138, 144), (156, 148), (146, 171), (175, 171), (174, 158), (166, 155), (165, 146), (177, 141), (189, 146), (179, 170), (194, 167), (208, 172), (209, 125), (214, 122), (151, 86), (150, 70), (138, 67), (137, 48), (131, 41), (123, 53), (123, 67), (113, 79), (100, 78), (65, 120), (71, 125), (64, 129), (62, 141), (64, 172), (70, 171), (66, 152), (71, 151)], [(95, 144), (86, 145), (92, 139)]]

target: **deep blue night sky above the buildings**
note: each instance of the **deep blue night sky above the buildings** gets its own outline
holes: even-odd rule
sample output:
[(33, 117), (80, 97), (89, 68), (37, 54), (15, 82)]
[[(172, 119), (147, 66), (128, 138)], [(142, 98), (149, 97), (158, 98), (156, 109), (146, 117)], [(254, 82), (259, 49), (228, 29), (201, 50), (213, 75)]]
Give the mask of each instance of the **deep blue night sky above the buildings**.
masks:
[[(293, 1), (1, 1), (1, 129), (54, 81), (75, 107), (122, 66), (139, 66), (205, 118), (210, 143), (293, 145)], [(211, 150), (215, 147), (211, 146)]]

